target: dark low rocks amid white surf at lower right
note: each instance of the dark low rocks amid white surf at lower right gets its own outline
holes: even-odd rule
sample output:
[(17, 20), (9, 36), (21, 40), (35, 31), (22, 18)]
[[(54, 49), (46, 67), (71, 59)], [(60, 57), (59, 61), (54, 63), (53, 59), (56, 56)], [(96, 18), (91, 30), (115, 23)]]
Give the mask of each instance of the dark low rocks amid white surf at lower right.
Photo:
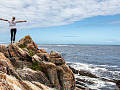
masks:
[[(83, 77), (88, 77), (88, 78), (93, 78), (93, 79), (98, 79), (98, 80), (101, 80), (103, 82), (115, 83), (116, 87), (114, 87), (114, 90), (120, 90), (120, 80), (107, 79), (107, 78), (98, 77), (98, 76), (90, 73), (89, 71), (77, 70), (77, 69), (73, 68), (71, 66), (71, 63), (68, 63), (67, 65), (69, 66), (69, 68), (72, 70), (72, 72), (75, 75), (83, 76)], [(85, 90), (85, 89), (87, 89), (87, 90), (97, 90), (97, 89), (91, 89), (88, 86), (88, 85), (94, 85), (94, 84), (95, 84), (94, 80), (91, 81), (89, 79), (76, 78), (76, 87), (81, 88), (83, 90)]]

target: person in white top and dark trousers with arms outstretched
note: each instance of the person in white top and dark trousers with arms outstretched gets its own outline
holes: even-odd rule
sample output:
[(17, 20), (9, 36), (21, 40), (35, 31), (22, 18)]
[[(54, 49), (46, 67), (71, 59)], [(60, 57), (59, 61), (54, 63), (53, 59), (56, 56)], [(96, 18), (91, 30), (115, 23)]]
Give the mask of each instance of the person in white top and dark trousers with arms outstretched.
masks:
[(16, 31), (17, 31), (16, 23), (27, 22), (27, 21), (15, 21), (15, 17), (12, 18), (12, 21), (9, 21), (7, 19), (2, 19), (2, 18), (0, 18), (0, 20), (8, 21), (8, 23), (9, 23), (9, 27), (11, 30), (11, 43), (15, 42), (15, 35), (16, 35)]

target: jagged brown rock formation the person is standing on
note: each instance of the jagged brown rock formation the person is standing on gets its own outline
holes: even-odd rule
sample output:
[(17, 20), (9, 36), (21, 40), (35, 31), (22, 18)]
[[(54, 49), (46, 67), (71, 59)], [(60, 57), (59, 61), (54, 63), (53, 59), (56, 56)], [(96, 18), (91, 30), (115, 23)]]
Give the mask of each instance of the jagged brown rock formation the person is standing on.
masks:
[(74, 90), (75, 78), (59, 53), (39, 49), (28, 35), (0, 45), (0, 86), (2, 90)]

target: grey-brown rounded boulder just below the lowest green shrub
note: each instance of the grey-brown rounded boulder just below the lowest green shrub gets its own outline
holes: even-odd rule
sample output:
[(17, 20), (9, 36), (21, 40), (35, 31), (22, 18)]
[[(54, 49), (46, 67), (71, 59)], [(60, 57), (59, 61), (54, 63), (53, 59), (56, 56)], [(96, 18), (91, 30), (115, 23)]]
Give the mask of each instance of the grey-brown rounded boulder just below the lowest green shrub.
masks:
[(23, 68), (23, 69), (17, 69), (17, 72), (21, 76), (22, 79), (27, 81), (36, 81), (40, 82), (42, 84), (45, 84), (47, 86), (50, 86), (50, 82), (47, 79), (46, 75), (41, 71), (34, 71), (30, 68)]

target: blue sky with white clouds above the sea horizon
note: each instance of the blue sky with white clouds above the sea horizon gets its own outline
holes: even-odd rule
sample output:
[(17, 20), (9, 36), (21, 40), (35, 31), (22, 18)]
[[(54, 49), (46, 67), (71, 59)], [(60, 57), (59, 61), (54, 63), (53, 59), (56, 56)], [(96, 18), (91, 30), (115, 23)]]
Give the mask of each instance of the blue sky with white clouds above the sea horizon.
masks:
[[(120, 0), (0, 0), (0, 18), (16, 21), (16, 41), (30, 35), (38, 44), (120, 45)], [(0, 43), (10, 29), (0, 21)]]

